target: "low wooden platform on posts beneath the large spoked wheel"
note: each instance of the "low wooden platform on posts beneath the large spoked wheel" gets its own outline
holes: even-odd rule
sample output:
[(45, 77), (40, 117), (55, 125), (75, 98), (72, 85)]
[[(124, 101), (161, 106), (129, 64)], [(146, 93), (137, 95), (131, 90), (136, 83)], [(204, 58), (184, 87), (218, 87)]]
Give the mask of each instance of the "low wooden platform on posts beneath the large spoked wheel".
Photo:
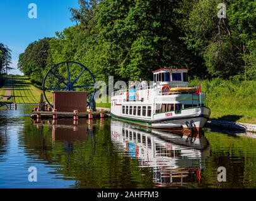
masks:
[[(110, 116), (110, 112), (109, 111), (93, 111), (91, 112), (91, 114), (93, 115), (93, 117), (100, 117), (100, 114), (104, 114), (104, 117), (109, 117)], [(37, 114), (41, 115), (41, 119), (52, 119), (52, 115), (53, 114), (57, 114), (58, 119), (59, 118), (73, 118), (74, 115), (77, 115), (78, 117), (81, 118), (88, 118), (88, 115), (90, 114), (90, 112), (49, 112), (49, 111), (33, 111), (31, 114), (31, 118), (32, 119), (37, 119)]]

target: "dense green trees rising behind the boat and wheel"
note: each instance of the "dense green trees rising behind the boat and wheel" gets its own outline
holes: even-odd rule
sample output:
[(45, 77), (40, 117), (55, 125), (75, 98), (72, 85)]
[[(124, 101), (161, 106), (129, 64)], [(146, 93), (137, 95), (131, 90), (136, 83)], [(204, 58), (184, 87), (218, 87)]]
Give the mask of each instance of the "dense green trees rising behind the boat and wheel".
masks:
[(190, 78), (256, 79), (256, 2), (79, 0), (75, 26), (28, 45), (18, 66), (32, 82), (52, 65), (81, 62), (97, 79), (151, 80), (159, 67), (190, 68)]

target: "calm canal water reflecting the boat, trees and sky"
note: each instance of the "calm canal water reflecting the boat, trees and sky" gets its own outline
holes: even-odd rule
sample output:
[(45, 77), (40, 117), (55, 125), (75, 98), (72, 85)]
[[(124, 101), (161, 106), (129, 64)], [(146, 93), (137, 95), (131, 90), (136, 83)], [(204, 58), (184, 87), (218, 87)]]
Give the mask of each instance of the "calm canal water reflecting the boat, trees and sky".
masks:
[(256, 139), (209, 129), (182, 136), (112, 119), (36, 122), (31, 111), (0, 111), (0, 188), (256, 187)]

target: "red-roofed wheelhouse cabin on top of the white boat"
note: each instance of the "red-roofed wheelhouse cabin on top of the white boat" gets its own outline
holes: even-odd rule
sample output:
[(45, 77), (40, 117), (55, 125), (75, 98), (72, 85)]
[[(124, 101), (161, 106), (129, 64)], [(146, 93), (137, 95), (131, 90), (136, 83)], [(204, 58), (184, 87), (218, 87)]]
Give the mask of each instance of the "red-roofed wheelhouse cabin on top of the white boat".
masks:
[(153, 71), (154, 85), (189, 85), (187, 72), (189, 68), (160, 68)]

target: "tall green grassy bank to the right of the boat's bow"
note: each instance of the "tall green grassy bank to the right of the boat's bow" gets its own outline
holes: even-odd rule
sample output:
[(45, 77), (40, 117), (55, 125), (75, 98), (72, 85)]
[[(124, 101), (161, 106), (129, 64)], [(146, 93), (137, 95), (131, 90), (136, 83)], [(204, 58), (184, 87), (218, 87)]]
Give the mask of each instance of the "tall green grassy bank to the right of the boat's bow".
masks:
[(256, 124), (256, 81), (204, 80), (201, 88), (212, 119)]

